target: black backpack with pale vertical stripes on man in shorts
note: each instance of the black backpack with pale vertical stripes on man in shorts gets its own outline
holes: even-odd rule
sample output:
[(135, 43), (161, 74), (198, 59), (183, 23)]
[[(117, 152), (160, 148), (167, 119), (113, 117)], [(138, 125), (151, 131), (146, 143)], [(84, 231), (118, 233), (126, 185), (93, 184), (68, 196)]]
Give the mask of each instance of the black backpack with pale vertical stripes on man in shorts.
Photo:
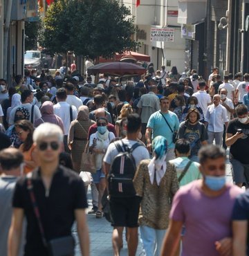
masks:
[(119, 154), (113, 159), (108, 174), (109, 194), (113, 197), (131, 197), (136, 195), (133, 178), (136, 173), (136, 163), (132, 152), (141, 143), (135, 143), (131, 148), (124, 145), (122, 140), (114, 142)]

